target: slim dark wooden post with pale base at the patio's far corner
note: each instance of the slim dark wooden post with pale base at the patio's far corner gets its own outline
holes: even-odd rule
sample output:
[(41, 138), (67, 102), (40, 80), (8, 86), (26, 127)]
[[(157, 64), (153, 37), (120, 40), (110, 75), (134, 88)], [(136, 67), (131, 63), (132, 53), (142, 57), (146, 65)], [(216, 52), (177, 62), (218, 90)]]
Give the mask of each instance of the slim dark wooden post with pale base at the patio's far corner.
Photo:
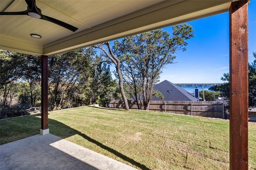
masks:
[(41, 134), (49, 133), (48, 129), (48, 56), (41, 56)]

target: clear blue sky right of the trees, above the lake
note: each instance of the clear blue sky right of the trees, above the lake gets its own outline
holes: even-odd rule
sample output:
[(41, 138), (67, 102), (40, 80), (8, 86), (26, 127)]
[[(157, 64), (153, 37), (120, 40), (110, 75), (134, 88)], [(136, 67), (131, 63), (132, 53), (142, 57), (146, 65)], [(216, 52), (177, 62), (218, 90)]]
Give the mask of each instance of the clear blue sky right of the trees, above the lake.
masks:
[[(175, 63), (167, 65), (160, 81), (173, 83), (219, 83), (229, 72), (229, 13), (188, 22), (195, 37), (188, 40), (187, 50), (177, 52)], [(172, 32), (171, 27), (163, 28)], [(256, 0), (249, 4), (249, 62), (256, 52)], [(114, 70), (114, 67), (111, 67)]]

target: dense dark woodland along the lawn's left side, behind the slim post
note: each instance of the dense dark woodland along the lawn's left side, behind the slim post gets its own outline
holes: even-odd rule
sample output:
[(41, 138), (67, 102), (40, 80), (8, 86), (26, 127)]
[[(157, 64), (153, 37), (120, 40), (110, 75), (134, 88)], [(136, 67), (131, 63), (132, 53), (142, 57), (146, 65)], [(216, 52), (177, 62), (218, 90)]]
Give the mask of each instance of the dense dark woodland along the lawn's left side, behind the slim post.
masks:
[[(49, 109), (119, 99), (109, 64), (94, 48), (49, 57)], [(41, 106), (41, 57), (0, 51), (0, 111)]]

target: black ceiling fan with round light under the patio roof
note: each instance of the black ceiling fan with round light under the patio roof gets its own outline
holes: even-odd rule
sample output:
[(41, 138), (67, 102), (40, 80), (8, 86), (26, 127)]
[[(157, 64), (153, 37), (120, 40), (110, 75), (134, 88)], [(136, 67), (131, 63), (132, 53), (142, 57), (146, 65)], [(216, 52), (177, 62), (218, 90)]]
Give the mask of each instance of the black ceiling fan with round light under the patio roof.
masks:
[(20, 12), (0, 12), (0, 15), (29, 15), (36, 19), (46, 20), (52, 23), (55, 23), (57, 25), (60, 25), (61, 27), (64, 27), (66, 29), (69, 29), (70, 31), (75, 32), (78, 28), (62, 22), (60, 20), (51, 18), (50, 16), (43, 15), (41, 10), (36, 6), (36, 0), (25, 0), (27, 3), (27, 10), (26, 11), (20, 11)]

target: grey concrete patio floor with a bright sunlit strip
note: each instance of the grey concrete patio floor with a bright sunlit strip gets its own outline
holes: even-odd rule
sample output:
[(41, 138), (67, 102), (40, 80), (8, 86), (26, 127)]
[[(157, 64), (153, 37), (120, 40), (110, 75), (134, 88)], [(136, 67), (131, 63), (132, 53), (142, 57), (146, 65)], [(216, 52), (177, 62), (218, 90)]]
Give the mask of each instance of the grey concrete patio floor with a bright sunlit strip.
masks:
[(135, 169), (52, 134), (0, 146), (0, 169)]

